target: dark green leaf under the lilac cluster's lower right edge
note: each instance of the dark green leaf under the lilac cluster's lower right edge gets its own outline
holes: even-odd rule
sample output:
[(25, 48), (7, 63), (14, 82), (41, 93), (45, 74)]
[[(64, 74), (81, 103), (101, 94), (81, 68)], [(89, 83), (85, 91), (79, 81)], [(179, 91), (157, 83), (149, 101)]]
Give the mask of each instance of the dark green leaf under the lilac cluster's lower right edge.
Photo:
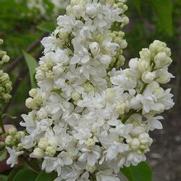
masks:
[(146, 162), (137, 166), (125, 167), (121, 171), (129, 181), (152, 181), (152, 171)]

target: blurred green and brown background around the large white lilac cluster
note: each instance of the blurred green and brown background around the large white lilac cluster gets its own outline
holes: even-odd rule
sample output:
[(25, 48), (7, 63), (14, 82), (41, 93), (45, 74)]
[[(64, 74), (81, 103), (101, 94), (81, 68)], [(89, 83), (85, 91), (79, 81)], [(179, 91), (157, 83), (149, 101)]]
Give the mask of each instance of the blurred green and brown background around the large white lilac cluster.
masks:
[[(20, 0), (19, 0), (20, 1)], [(26, 112), (24, 106), (31, 88), (28, 67), (23, 51), (32, 56), (41, 56), (40, 40), (50, 33), (56, 22), (53, 5), (45, 0), (47, 16), (26, 6), (27, 1), (0, 0), (0, 38), (4, 39), (4, 49), (11, 56), (6, 70), (13, 80), (13, 99), (5, 107), (7, 122), (18, 123), (20, 115)], [(127, 60), (137, 57), (141, 48), (159, 39), (168, 43), (172, 49), (173, 64), (171, 72), (175, 79), (167, 85), (175, 95), (176, 105), (166, 116), (164, 130), (155, 133), (155, 144), (150, 163), (155, 170), (155, 181), (181, 180), (181, 0), (128, 0), (130, 19), (125, 28), (128, 48)], [(60, 10), (60, 14), (63, 10)]]

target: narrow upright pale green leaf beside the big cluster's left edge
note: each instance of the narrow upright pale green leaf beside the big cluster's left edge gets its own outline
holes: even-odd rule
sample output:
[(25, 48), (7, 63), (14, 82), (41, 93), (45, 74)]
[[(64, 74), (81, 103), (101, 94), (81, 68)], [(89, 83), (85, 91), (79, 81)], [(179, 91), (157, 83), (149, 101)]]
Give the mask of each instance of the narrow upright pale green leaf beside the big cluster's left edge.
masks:
[(24, 54), (26, 64), (27, 64), (28, 69), (29, 69), (31, 86), (32, 86), (32, 88), (36, 87), (35, 72), (36, 72), (37, 62), (30, 54), (28, 54), (24, 51), (23, 51), (23, 54)]

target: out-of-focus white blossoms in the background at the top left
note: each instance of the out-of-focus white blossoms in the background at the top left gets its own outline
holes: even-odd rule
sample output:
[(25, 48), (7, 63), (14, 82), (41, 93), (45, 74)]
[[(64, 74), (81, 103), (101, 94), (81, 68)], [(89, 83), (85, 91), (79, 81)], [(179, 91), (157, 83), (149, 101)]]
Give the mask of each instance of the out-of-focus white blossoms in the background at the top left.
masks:
[(61, 9), (65, 9), (69, 0), (27, 0), (27, 7), (36, 10), (41, 16), (47, 16), (49, 6), (52, 6), (53, 14), (58, 15)]

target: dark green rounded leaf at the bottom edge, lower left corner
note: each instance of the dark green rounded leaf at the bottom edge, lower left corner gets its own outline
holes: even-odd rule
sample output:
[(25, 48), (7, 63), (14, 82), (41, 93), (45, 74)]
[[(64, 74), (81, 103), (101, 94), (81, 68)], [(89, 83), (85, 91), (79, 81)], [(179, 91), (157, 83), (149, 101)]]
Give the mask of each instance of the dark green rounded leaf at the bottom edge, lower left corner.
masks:
[(30, 169), (23, 168), (17, 172), (12, 181), (35, 181), (37, 174)]

